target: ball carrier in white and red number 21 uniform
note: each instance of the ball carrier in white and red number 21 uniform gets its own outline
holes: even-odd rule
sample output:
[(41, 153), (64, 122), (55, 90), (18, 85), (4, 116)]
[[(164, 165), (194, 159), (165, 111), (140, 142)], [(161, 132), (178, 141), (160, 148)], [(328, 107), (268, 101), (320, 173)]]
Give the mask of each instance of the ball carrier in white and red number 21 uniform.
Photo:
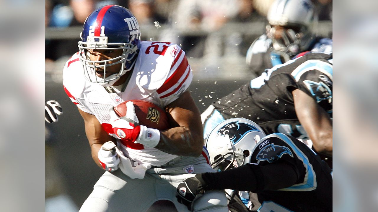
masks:
[[(81, 212), (145, 211), (157, 200), (172, 201), (183, 179), (214, 171), (203, 152), (200, 113), (188, 87), (192, 71), (179, 45), (141, 41), (135, 16), (106, 5), (84, 23), (79, 52), (65, 64), (64, 89), (84, 119), (92, 158), (106, 172)], [(144, 99), (165, 109), (171, 128), (140, 125), (133, 104), (125, 117), (113, 107)], [(131, 103), (131, 102), (130, 102)], [(228, 211), (224, 192), (209, 192), (194, 211)]]

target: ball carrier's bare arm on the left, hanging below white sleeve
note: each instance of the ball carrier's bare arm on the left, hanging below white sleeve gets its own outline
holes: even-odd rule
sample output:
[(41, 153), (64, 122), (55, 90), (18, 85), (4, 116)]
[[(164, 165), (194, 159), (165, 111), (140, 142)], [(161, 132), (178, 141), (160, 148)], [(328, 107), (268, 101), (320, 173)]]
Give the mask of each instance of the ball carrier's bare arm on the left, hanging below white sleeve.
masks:
[(115, 138), (110, 136), (104, 130), (104, 128), (102, 128), (100, 122), (94, 115), (88, 114), (87, 112), (84, 112), (81, 109), (79, 109), (79, 113), (84, 119), (85, 134), (87, 135), (87, 139), (91, 147), (92, 158), (99, 167), (102, 167), (98, 159), (98, 152), (102, 144), (104, 144), (107, 141), (115, 142)]

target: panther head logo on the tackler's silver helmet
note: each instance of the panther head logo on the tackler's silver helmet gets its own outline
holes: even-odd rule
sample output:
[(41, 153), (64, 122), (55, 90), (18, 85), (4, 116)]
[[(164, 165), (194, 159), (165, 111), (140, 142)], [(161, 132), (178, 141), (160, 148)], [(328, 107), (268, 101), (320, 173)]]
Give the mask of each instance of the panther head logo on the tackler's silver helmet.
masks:
[(232, 121), (222, 126), (217, 131), (217, 134), (222, 136), (228, 135), (230, 137), (230, 141), (232, 142), (232, 144), (235, 145), (243, 138), (244, 135), (252, 131), (261, 132), (259, 129), (257, 129), (255, 126), (251, 124), (239, 121)]

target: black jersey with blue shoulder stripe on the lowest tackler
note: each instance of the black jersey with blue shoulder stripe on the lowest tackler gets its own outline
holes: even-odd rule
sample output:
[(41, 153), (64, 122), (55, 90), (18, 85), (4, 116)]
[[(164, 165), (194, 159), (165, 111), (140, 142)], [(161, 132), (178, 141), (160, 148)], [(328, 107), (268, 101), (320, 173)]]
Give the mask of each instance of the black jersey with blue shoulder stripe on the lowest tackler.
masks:
[(331, 169), (318, 155), (294, 137), (275, 133), (256, 144), (251, 163), (265, 166), (286, 163), (297, 172), (294, 185), (257, 194), (260, 212), (332, 211)]

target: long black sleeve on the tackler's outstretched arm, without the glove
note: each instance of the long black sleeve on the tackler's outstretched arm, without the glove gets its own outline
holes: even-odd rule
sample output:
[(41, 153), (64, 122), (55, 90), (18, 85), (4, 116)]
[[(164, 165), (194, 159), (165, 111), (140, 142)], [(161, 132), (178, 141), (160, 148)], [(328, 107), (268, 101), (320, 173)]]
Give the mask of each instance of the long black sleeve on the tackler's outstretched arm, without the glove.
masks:
[(246, 164), (222, 172), (204, 173), (202, 178), (208, 184), (206, 190), (233, 189), (257, 193), (292, 186), (298, 176), (290, 164), (274, 163), (266, 166)]

